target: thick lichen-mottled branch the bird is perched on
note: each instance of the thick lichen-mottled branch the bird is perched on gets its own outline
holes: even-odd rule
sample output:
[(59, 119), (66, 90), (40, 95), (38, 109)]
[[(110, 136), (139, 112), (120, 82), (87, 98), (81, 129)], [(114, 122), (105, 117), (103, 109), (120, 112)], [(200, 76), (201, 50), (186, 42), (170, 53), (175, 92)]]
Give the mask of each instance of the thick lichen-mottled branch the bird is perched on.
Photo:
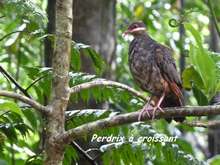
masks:
[[(165, 108), (165, 113), (157, 111), (155, 114), (155, 119), (161, 118), (172, 118), (172, 117), (183, 117), (183, 116), (207, 116), (207, 115), (217, 115), (220, 114), (220, 105), (213, 106), (193, 106), (193, 107), (174, 107), (174, 108)], [(149, 111), (152, 116), (152, 111)], [(92, 134), (96, 131), (110, 128), (114, 126), (119, 126), (123, 124), (138, 122), (139, 112), (131, 112), (126, 114), (121, 114), (98, 121), (90, 122), (83, 124), (76, 128), (70, 129), (58, 135), (56, 140), (68, 144), (72, 140), (79, 139), (84, 135)], [(151, 119), (146, 113), (142, 118), (142, 121)]]

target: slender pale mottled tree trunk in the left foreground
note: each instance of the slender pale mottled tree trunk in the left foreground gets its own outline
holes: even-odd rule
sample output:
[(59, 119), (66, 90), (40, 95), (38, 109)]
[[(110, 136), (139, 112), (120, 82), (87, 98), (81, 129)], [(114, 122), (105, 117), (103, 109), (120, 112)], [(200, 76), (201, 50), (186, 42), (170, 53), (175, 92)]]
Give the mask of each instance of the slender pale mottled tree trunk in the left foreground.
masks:
[(46, 127), (46, 165), (62, 164), (64, 156), (64, 145), (54, 139), (65, 131), (65, 110), (70, 95), (68, 73), (72, 38), (72, 0), (56, 1), (55, 32), (52, 101), (48, 105), (50, 113), (47, 116)]

